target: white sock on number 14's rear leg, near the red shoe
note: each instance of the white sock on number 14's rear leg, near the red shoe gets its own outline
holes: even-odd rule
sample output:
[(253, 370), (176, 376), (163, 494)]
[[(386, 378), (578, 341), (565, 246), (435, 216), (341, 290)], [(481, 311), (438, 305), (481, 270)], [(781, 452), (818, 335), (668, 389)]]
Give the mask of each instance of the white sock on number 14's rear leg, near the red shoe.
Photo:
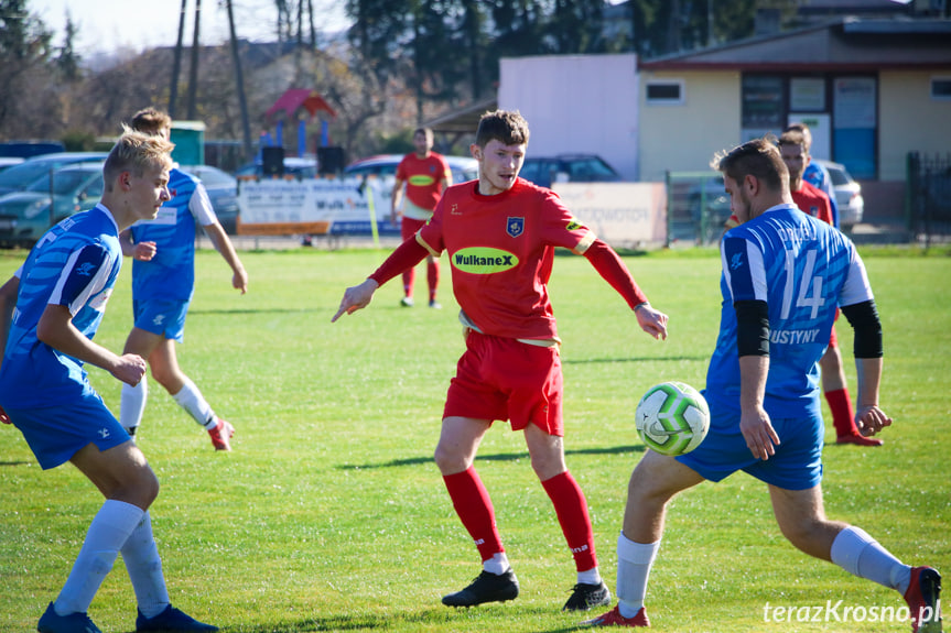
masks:
[(911, 582), (911, 567), (904, 565), (861, 527), (850, 525), (832, 542), (832, 563), (844, 570), (896, 589), (903, 596)]

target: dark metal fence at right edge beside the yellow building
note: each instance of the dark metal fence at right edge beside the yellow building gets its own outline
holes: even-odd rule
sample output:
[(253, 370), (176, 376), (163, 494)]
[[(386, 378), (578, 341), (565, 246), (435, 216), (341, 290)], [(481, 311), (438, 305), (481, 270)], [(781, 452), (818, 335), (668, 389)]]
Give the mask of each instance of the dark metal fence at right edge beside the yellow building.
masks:
[(951, 237), (951, 154), (908, 153), (908, 230), (927, 243)]

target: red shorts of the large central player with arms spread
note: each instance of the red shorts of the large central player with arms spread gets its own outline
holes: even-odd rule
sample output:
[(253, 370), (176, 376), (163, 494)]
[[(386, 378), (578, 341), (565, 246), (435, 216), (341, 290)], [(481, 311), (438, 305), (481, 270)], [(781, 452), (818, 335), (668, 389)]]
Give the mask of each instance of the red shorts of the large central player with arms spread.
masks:
[(512, 430), (533, 423), (549, 435), (563, 437), (563, 391), (556, 346), (539, 347), (469, 330), (443, 417), (508, 419)]

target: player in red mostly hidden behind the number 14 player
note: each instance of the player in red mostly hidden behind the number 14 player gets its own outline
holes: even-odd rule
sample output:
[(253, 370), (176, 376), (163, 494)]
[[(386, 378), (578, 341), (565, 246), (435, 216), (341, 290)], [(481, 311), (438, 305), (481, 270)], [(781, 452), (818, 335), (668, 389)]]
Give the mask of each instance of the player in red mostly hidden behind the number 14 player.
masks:
[[(779, 153), (789, 171), (789, 190), (796, 206), (810, 216), (835, 226), (829, 196), (802, 179), (806, 167), (811, 160), (809, 142), (802, 131), (789, 129), (784, 132), (779, 137)], [(882, 446), (882, 439), (865, 437), (855, 426), (855, 410), (852, 407), (852, 399), (845, 383), (845, 370), (842, 367), (842, 353), (839, 351), (835, 326), (832, 327), (829, 349), (819, 361), (819, 368), (822, 370), (822, 392), (825, 395), (825, 402), (829, 403), (829, 408), (832, 411), (835, 441), (860, 446)]]

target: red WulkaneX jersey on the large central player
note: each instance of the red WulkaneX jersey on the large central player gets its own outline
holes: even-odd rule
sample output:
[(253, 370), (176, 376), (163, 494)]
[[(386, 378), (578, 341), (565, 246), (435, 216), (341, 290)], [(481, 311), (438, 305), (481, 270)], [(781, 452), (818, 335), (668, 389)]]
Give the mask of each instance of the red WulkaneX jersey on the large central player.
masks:
[(449, 253), (453, 294), (483, 334), (523, 339), (558, 337), (548, 295), (555, 247), (583, 254), (595, 241), (554, 192), (518, 178), (495, 196), (478, 182), (449, 187), (417, 240)]

